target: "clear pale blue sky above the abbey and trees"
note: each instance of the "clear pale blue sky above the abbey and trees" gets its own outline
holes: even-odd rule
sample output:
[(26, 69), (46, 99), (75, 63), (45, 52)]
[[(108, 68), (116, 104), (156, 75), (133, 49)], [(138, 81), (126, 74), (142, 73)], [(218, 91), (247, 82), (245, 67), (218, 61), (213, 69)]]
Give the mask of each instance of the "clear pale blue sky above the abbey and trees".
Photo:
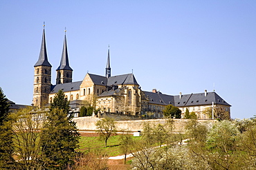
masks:
[(0, 1), (0, 87), (17, 104), (33, 99), (34, 65), (46, 22), (48, 61), (60, 65), (64, 29), (73, 81), (134, 75), (163, 94), (213, 89), (232, 118), (256, 114), (256, 1)]

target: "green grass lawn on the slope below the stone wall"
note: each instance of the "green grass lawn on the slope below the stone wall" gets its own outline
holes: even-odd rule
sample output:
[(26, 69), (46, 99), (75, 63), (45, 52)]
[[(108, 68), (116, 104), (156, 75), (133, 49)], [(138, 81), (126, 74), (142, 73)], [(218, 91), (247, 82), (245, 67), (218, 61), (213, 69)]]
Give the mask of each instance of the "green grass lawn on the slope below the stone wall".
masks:
[[(107, 147), (105, 147), (104, 141), (98, 140), (99, 137), (86, 137), (81, 136), (79, 145), (80, 148), (77, 151), (90, 151), (93, 149), (102, 149), (103, 153), (107, 153), (107, 156), (119, 156), (122, 155), (119, 149), (120, 137), (119, 135), (111, 136), (107, 140)], [(140, 140), (141, 137), (134, 137), (134, 140)]]

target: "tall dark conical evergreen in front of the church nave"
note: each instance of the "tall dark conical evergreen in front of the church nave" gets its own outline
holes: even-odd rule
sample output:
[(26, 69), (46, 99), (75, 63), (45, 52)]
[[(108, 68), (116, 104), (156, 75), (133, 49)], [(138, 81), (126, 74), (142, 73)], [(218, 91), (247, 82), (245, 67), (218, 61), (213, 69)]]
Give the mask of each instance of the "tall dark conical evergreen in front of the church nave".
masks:
[(46, 169), (65, 169), (73, 164), (79, 133), (69, 114), (69, 102), (61, 90), (55, 95), (42, 131), (42, 162)]

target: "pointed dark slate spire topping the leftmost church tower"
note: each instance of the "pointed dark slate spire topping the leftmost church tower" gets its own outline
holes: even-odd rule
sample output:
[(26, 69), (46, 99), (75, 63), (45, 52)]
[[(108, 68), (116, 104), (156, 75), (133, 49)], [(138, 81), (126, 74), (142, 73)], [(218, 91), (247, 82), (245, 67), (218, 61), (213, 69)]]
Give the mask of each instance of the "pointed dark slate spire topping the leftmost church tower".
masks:
[(39, 65), (45, 65), (45, 66), (52, 67), (51, 64), (48, 62), (48, 59), (47, 59), (46, 37), (45, 37), (44, 29), (43, 29), (42, 44), (41, 44), (39, 59), (38, 59), (37, 63), (35, 63), (34, 67), (39, 66)]

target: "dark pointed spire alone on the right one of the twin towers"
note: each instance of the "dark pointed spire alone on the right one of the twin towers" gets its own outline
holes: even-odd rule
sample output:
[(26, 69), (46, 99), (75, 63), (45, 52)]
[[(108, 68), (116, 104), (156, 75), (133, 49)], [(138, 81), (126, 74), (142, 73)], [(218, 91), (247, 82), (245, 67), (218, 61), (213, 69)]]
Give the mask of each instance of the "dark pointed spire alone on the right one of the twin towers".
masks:
[(62, 59), (60, 61), (60, 66), (57, 67), (57, 70), (71, 70), (71, 67), (68, 63), (68, 47), (66, 45), (66, 28), (65, 28), (65, 36), (64, 36), (64, 44), (63, 44), (63, 50), (62, 50)]

